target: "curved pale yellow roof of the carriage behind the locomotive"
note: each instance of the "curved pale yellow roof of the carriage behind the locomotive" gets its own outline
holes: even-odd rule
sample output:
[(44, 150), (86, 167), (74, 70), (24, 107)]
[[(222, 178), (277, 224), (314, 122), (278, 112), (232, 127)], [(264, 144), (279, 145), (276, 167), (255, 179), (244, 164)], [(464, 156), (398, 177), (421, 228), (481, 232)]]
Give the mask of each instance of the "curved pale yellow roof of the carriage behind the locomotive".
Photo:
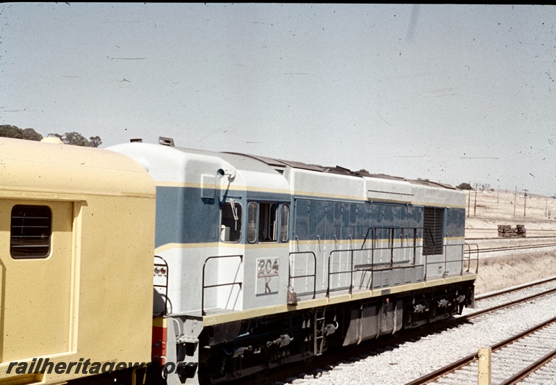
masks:
[[(104, 149), (0, 138), (0, 196), (34, 193), (154, 197), (149, 174)], [(17, 193), (16, 193), (17, 192)]]

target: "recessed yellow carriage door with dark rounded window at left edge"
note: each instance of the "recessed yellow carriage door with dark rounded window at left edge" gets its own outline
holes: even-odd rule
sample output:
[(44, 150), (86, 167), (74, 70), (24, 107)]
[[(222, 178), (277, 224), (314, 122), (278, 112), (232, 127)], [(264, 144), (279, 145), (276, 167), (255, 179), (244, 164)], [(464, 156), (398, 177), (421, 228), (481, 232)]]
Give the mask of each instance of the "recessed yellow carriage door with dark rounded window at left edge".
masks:
[(0, 362), (70, 351), (73, 202), (0, 199)]

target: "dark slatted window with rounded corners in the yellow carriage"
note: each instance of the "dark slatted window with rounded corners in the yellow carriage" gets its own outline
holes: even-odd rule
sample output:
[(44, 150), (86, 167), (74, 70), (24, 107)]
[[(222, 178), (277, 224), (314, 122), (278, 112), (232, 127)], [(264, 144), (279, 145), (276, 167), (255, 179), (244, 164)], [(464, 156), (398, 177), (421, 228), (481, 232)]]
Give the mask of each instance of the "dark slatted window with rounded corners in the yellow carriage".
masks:
[(14, 259), (46, 258), (51, 233), (52, 212), (48, 206), (13, 206), (10, 254)]

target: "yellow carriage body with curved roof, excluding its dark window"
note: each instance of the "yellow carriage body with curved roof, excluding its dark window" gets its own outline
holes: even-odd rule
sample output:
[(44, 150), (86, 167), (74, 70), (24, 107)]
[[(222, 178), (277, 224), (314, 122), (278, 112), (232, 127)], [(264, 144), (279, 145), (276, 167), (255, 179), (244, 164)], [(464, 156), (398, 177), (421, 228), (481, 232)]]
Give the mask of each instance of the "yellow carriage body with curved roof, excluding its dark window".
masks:
[[(155, 187), (102, 149), (0, 138), (0, 384), (79, 375), (15, 374), (10, 362), (149, 362)], [(15, 204), (49, 206), (45, 259), (10, 256)], [(35, 360), (36, 361), (36, 360)]]

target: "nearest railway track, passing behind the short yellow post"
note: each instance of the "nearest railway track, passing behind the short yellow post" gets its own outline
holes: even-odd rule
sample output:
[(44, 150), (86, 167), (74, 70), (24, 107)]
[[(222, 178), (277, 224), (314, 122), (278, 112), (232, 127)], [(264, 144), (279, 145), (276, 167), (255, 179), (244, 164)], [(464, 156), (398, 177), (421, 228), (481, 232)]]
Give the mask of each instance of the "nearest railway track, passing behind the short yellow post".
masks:
[[(516, 384), (539, 371), (556, 357), (554, 341), (556, 317), (491, 346), (492, 383)], [(477, 384), (477, 359), (478, 354), (471, 354), (406, 385)], [(554, 373), (548, 376), (555, 380)]]

